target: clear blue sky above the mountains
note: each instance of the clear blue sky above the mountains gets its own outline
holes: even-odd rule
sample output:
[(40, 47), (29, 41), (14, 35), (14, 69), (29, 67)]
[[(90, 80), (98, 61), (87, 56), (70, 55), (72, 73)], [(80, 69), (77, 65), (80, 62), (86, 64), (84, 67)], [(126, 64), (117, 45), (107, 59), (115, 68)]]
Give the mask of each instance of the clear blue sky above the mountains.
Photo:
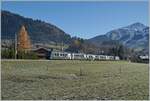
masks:
[(2, 9), (40, 19), (71, 36), (92, 38), (135, 22), (148, 25), (148, 2), (2, 2)]

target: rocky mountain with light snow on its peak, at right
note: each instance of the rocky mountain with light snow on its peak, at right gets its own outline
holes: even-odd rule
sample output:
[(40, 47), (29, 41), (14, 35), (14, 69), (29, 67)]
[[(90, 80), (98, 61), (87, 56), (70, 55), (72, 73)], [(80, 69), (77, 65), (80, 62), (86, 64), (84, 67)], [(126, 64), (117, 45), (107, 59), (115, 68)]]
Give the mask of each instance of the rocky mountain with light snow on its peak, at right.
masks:
[(126, 27), (118, 28), (104, 35), (89, 39), (95, 45), (104, 45), (104, 41), (112, 43), (118, 41), (136, 51), (146, 50), (148, 52), (149, 27), (137, 22)]

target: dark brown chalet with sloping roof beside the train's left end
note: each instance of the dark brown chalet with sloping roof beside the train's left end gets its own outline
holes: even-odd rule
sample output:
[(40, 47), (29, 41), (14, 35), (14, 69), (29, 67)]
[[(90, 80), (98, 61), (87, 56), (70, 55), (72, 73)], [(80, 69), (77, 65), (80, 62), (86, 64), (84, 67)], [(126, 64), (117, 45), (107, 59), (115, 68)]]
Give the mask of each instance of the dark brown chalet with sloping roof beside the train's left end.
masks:
[(40, 59), (50, 59), (52, 50), (53, 49), (37, 48), (37, 49), (33, 49), (32, 51), (36, 53), (38, 58)]

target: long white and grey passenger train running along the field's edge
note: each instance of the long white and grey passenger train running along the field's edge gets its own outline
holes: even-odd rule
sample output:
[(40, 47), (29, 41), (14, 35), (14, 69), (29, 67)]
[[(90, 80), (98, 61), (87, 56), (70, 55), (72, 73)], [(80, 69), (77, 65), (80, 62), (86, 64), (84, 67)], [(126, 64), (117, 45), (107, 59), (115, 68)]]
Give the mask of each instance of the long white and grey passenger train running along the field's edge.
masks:
[(119, 56), (94, 55), (85, 53), (69, 53), (52, 51), (49, 59), (63, 60), (120, 60)]

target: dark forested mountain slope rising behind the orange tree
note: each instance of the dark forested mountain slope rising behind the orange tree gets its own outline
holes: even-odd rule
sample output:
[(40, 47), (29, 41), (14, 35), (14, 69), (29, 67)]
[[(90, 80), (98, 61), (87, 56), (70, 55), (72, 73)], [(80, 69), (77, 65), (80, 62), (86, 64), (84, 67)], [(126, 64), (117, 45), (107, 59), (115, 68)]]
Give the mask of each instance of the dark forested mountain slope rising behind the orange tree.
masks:
[[(44, 16), (44, 15), (43, 15)], [(69, 44), (71, 37), (60, 28), (41, 20), (25, 18), (9, 11), (1, 11), (1, 38), (2, 40), (15, 39), (21, 26), (24, 25), (34, 43), (65, 43)]]

